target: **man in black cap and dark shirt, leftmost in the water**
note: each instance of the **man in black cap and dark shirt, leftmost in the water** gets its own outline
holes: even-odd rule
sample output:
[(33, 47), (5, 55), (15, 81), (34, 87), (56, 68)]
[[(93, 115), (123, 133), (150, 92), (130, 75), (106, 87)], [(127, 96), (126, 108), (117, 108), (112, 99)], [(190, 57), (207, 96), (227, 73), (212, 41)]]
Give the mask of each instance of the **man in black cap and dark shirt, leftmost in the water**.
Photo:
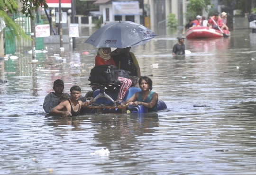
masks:
[(50, 111), (57, 105), (59, 105), (60, 102), (63, 101), (63, 99), (60, 99), (60, 96), (63, 95), (64, 90), (64, 82), (61, 79), (57, 79), (54, 81), (53, 85), (54, 92), (50, 92), (45, 97), (45, 101), (43, 104), (43, 108), (46, 113), (50, 113)]

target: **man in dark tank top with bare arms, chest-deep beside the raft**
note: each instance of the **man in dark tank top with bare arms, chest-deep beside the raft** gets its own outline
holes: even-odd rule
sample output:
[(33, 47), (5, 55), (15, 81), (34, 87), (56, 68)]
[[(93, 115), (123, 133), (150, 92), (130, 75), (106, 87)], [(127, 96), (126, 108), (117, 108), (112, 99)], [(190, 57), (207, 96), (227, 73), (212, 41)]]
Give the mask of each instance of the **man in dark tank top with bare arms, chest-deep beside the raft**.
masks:
[(86, 107), (95, 102), (94, 98), (89, 102), (80, 101), (81, 88), (79, 86), (71, 87), (70, 95), (71, 99), (62, 101), (51, 110), (50, 114), (61, 114), (63, 117), (79, 116), (81, 107)]

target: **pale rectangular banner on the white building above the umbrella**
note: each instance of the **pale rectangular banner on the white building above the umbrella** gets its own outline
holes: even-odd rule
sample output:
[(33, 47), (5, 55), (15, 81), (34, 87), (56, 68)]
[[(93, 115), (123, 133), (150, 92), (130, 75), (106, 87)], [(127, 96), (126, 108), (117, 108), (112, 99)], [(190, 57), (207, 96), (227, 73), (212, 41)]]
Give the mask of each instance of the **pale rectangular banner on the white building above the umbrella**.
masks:
[(113, 15), (140, 15), (138, 1), (112, 2)]

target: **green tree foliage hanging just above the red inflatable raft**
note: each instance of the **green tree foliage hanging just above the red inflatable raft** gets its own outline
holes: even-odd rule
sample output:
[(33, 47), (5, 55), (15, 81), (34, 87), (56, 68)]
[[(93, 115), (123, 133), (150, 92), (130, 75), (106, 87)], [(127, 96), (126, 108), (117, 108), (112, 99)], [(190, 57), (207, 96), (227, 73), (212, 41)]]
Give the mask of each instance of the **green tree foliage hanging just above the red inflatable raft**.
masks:
[(211, 0), (190, 0), (187, 5), (187, 12), (185, 17), (187, 20), (189, 18), (195, 18), (197, 15), (202, 15), (203, 9), (207, 11), (207, 6), (210, 5)]

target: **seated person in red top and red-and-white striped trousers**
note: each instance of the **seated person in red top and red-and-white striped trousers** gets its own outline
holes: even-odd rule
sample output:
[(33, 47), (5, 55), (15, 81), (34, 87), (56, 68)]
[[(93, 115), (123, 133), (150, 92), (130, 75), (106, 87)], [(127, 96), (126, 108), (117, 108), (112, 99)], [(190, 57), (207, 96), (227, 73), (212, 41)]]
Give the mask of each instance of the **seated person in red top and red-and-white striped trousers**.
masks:
[[(115, 61), (110, 56), (110, 53), (111, 53), (111, 49), (109, 47), (99, 48), (98, 53), (95, 57), (95, 66), (104, 65), (104, 64), (111, 64), (116, 66)], [(119, 89), (118, 98), (116, 102), (119, 103), (119, 105), (125, 105), (123, 98), (126, 95), (129, 87), (132, 85), (132, 81), (124, 77), (118, 77), (118, 79), (121, 82), (121, 86)]]

